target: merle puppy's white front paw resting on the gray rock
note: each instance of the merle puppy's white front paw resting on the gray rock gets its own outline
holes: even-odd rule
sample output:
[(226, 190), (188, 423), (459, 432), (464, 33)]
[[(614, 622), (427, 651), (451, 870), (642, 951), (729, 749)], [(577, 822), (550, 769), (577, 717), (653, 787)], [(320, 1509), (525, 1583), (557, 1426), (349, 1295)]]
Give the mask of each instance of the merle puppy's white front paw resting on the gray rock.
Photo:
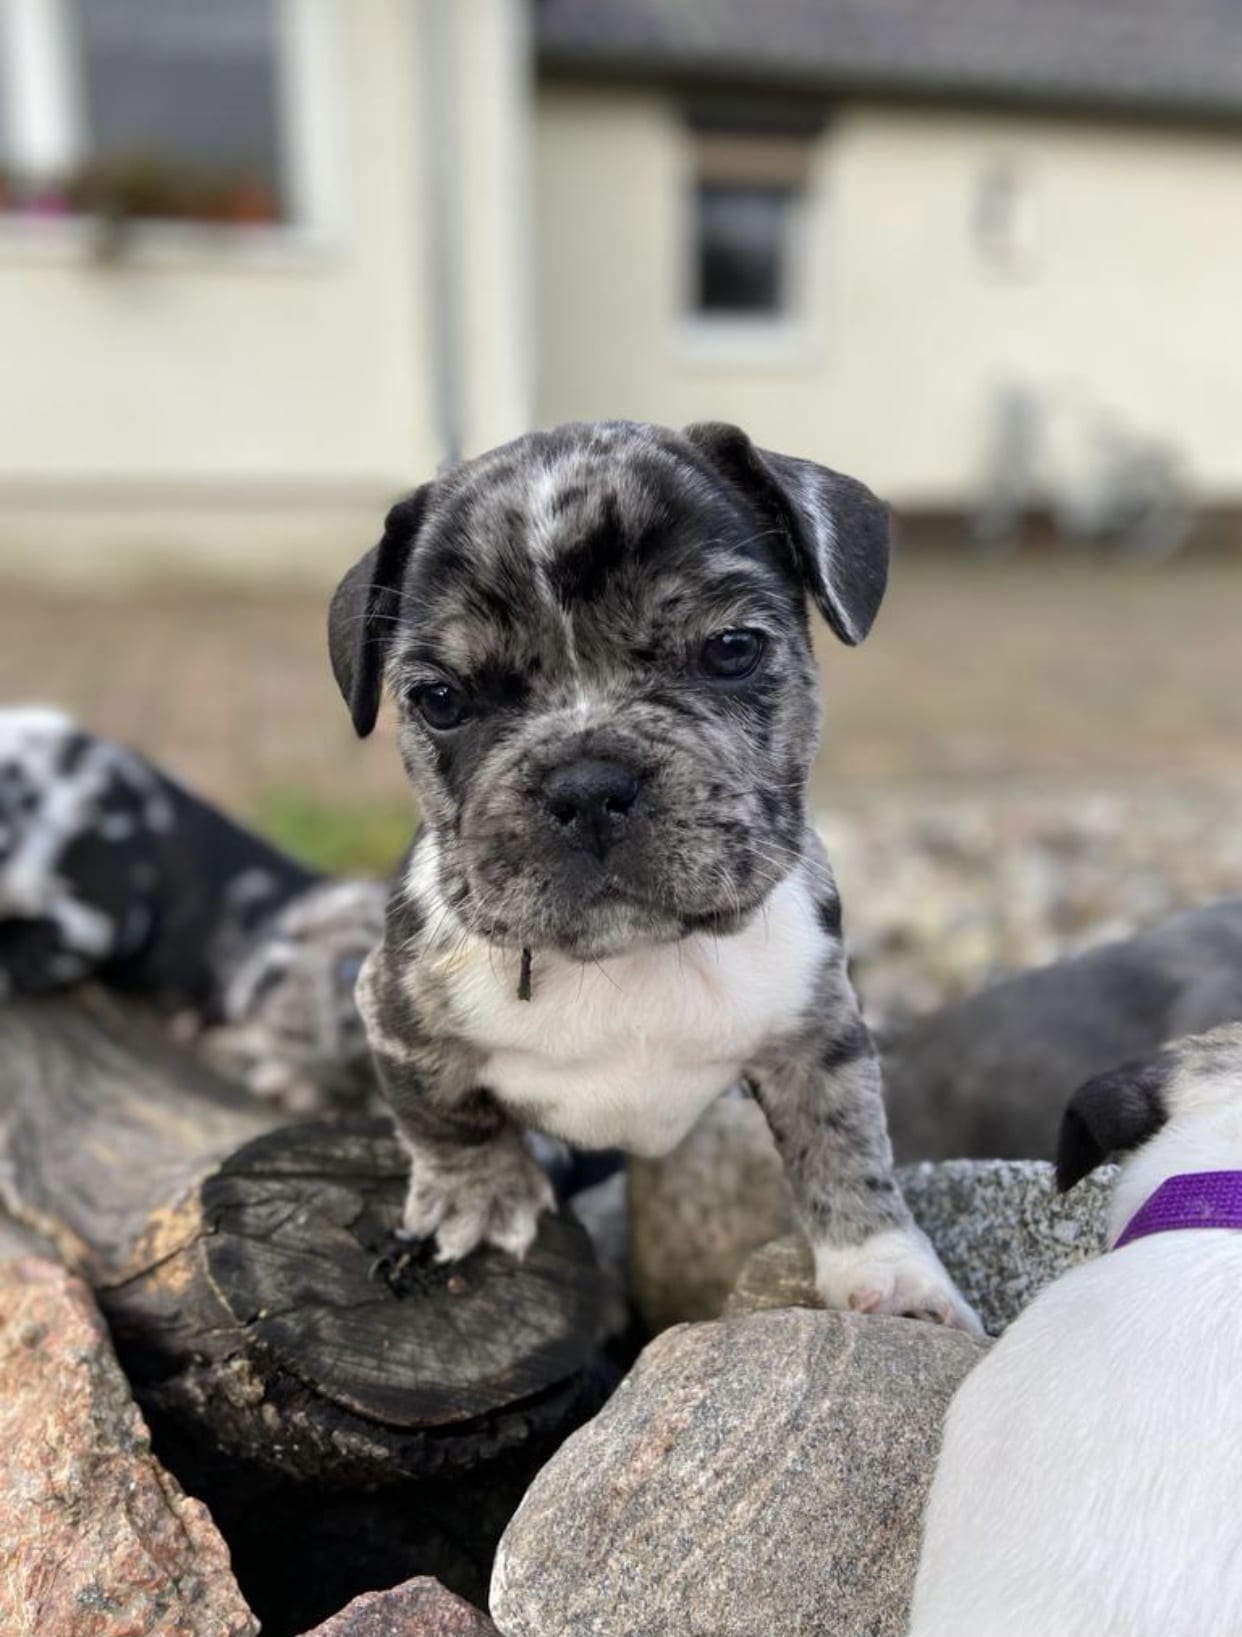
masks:
[(815, 1247), (815, 1283), (830, 1308), (929, 1319), (982, 1339), (983, 1326), (921, 1229), (889, 1228), (856, 1246)]

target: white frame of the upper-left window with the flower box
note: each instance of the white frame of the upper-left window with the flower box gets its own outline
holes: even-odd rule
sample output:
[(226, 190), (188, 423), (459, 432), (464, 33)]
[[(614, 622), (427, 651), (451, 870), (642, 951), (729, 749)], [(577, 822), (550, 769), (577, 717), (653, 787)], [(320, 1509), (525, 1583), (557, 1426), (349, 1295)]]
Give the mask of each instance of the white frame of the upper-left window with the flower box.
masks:
[[(288, 219), (245, 226), (142, 221), (134, 224), (131, 254), (223, 250), (262, 259), (329, 247), (344, 234), (340, 0), (273, 0), (273, 15)], [(0, 0), (0, 74), (5, 162), (34, 182), (77, 169), (90, 142), (69, 0)], [(0, 246), (80, 244), (88, 228), (80, 216), (3, 213)]]

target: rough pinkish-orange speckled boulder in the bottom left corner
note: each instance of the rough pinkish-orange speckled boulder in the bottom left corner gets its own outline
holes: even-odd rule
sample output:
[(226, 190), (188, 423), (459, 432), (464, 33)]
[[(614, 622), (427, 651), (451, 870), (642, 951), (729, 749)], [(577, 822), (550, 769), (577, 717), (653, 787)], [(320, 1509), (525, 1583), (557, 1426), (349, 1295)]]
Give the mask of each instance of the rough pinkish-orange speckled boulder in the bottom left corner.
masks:
[(254, 1637), (201, 1501), (151, 1454), (87, 1287), (0, 1262), (0, 1632)]

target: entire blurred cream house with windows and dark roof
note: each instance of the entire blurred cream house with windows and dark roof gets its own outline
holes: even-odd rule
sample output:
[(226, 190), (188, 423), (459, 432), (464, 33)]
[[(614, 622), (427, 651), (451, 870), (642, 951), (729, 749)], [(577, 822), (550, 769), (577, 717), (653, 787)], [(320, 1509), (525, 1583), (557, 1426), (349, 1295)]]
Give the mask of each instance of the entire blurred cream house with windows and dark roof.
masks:
[(1221, 0), (2, 0), (0, 133), (8, 563), (319, 573), (609, 414), (1242, 503)]

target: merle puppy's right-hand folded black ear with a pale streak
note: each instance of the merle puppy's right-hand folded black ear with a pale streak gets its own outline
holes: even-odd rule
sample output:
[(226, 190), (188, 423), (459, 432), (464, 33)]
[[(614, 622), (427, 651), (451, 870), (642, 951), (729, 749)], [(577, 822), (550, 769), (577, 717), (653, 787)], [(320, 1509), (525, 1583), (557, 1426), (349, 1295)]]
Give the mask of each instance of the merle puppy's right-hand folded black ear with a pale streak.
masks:
[(741, 427), (704, 421), (684, 435), (784, 525), (823, 617), (841, 642), (862, 642), (889, 583), (889, 507), (857, 478), (756, 449)]

